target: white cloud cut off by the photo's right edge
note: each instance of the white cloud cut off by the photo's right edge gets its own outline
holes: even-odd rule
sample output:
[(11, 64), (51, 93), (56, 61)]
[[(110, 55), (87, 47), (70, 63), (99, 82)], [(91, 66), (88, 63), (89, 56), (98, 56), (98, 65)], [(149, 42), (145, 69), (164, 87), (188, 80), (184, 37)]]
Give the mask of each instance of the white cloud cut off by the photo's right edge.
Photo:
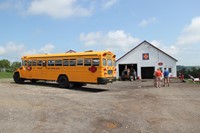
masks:
[(200, 17), (195, 17), (187, 25), (177, 39), (177, 45), (192, 45), (200, 43)]

